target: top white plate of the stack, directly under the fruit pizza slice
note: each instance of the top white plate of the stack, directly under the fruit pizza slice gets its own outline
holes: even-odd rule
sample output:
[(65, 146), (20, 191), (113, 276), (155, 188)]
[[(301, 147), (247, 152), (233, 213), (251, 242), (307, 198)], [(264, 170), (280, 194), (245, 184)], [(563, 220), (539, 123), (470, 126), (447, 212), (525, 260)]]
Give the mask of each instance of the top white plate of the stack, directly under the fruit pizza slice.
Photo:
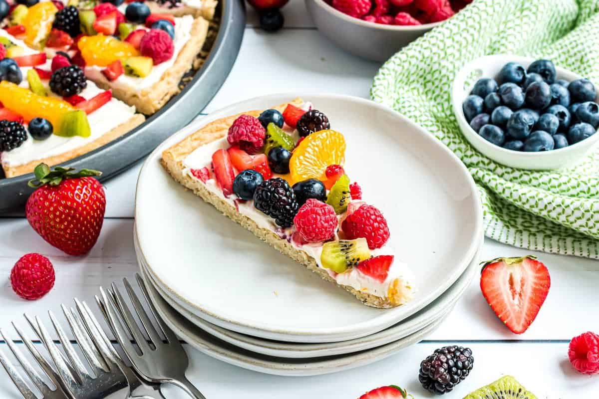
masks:
[[(362, 185), (365, 199), (382, 209), (391, 245), (416, 274), (418, 293), (409, 304), (364, 306), (220, 215), (159, 164), (165, 148), (206, 123), (296, 95), (313, 102), (344, 134), (346, 172)], [(135, 220), (140, 252), (169, 297), (219, 327), (290, 342), (349, 340), (397, 324), (456, 281), (482, 236), (474, 181), (437, 139), (377, 103), (305, 93), (246, 100), (171, 136), (140, 172)]]

